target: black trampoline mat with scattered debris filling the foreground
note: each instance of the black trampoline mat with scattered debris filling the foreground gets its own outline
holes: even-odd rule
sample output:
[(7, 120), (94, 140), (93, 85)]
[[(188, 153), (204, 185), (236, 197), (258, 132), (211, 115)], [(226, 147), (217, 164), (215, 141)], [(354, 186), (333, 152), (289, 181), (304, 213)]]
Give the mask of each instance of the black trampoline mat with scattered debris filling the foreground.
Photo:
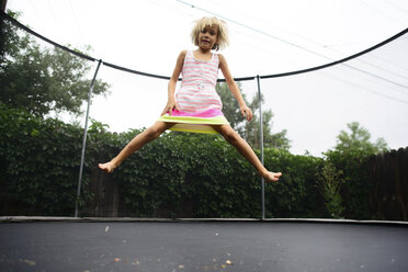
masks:
[(1, 271), (408, 271), (403, 223), (2, 222)]

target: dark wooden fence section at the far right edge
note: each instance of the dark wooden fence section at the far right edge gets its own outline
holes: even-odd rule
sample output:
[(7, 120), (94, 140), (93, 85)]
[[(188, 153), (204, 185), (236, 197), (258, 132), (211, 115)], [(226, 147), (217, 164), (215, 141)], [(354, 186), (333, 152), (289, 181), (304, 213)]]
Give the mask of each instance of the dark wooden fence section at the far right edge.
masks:
[(378, 219), (408, 220), (408, 147), (371, 158), (374, 215)]

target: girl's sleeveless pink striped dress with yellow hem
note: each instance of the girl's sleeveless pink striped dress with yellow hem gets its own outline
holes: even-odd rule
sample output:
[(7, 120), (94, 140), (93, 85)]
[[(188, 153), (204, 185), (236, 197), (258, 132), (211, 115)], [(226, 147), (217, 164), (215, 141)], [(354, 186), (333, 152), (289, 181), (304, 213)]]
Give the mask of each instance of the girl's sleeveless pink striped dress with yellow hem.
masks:
[(185, 54), (181, 88), (175, 92), (180, 111), (162, 115), (159, 121), (175, 123), (170, 131), (209, 133), (217, 132), (211, 125), (228, 124), (222, 112), (223, 103), (215, 90), (219, 59), (213, 54), (207, 61), (195, 59), (193, 52)]

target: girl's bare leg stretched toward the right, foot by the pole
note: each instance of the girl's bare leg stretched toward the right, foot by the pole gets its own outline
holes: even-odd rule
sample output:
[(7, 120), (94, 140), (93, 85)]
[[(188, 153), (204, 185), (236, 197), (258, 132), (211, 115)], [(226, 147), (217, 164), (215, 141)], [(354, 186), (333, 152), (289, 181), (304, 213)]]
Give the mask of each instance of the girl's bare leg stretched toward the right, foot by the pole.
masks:
[(237, 132), (233, 129), (229, 125), (213, 126), (224, 138), (235, 146), (238, 151), (257, 169), (259, 174), (265, 179), (267, 182), (277, 181), (282, 175), (281, 172), (274, 173), (270, 172), (262, 166), (262, 162), (258, 159), (257, 155), (253, 152), (252, 148), (248, 143), (239, 136)]

